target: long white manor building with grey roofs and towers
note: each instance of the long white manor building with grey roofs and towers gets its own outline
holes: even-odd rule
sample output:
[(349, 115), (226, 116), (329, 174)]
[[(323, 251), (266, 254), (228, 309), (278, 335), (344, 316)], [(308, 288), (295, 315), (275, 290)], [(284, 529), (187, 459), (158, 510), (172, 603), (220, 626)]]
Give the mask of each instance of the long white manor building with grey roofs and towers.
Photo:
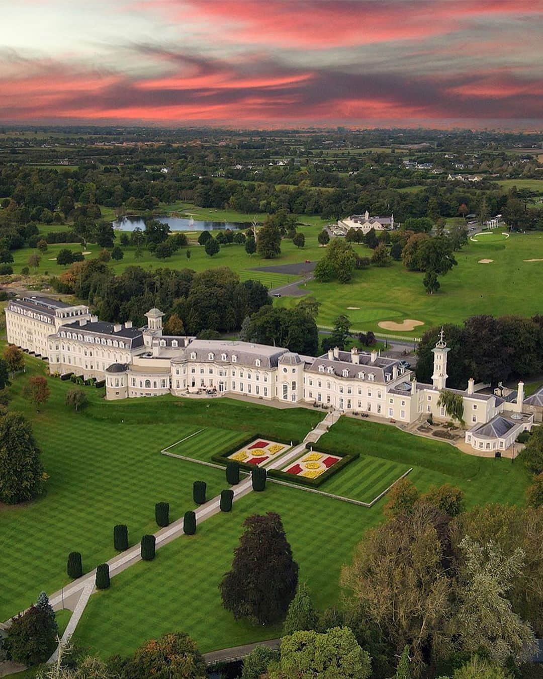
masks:
[[(109, 400), (201, 390), (238, 394), (262, 401), (322, 404), (343, 413), (369, 413), (409, 425), (417, 420), (449, 420), (438, 405), (447, 385), (449, 348), (443, 331), (434, 352), (432, 384), (417, 382), (400, 361), (379, 352), (331, 349), (303, 356), (285, 348), (224, 339), (162, 334), (162, 316), (151, 309), (148, 325), (105, 323), (87, 306), (45, 297), (23, 297), (5, 309), (7, 341), (47, 359), (50, 372), (105, 380)], [(519, 433), (542, 420), (543, 390), (524, 399), (524, 385), (506, 398), (474, 390), (461, 394), (466, 443), (474, 449), (505, 450)]]

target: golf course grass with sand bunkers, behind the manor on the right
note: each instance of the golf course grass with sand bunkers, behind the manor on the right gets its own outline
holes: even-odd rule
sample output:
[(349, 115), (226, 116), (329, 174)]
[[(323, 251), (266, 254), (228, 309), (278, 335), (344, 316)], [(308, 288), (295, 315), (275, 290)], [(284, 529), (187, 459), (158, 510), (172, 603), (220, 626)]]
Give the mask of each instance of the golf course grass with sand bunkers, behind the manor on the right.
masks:
[[(364, 331), (391, 332), (379, 327), (381, 320), (421, 320), (424, 325), (399, 332), (413, 337), (432, 325), (462, 323), (473, 314), (500, 316), (513, 310), (519, 316), (533, 316), (541, 311), (543, 261), (523, 260), (543, 259), (542, 233), (512, 234), (500, 242), (468, 242), (455, 258), (458, 265), (440, 277), (436, 295), (426, 294), (423, 273), (408, 272), (401, 262), (357, 271), (347, 285), (312, 280), (306, 289), (321, 303), (317, 320), (323, 327), (331, 327), (338, 314), (348, 314), (352, 329)], [(480, 259), (493, 262), (479, 264)], [(294, 306), (297, 301), (282, 297), (274, 304)]]

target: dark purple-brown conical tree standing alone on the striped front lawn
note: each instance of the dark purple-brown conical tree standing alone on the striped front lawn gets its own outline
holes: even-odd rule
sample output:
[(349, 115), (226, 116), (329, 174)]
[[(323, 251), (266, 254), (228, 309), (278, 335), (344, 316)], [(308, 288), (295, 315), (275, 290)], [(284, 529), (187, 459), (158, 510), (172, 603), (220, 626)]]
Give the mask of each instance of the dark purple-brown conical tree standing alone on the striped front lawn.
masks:
[(234, 551), (232, 568), (219, 585), (223, 606), (236, 620), (277, 623), (295, 596), (298, 564), (278, 514), (255, 514), (243, 525), (245, 532)]

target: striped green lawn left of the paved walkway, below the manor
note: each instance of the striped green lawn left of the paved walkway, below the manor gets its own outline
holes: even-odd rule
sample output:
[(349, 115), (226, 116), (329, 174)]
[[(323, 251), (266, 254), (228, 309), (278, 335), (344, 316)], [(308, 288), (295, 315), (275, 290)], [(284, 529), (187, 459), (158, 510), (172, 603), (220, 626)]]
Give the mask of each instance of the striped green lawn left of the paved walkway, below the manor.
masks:
[[(90, 405), (79, 413), (64, 405), (72, 386), (48, 380), (51, 397), (38, 415), (20, 396), (43, 363), (26, 357), (27, 371), (10, 388), (11, 408), (28, 416), (49, 475), (47, 494), (20, 507), (0, 507), (0, 619), (35, 600), (41, 590), (68, 582), (66, 559), (81, 551), (90, 570), (111, 558), (112, 531), (128, 525), (130, 543), (157, 530), (156, 502), (170, 502), (176, 519), (193, 508), (192, 483), (202, 479), (208, 496), (225, 488), (224, 473), (172, 460), (160, 449), (202, 426), (219, 426), (236, 437), (262, 433), (271, 439), (301, 438), (322, 417), (307, 409), (278, 411), (229, 399), (134, 399), (108, 403), (102, 390), (86, 388)], [(219, 442), (220, 445), (220, 442)], [(212, 452), (217, 452), (213, 450)], [(210, 452), (210, 454), (212, 454)]]

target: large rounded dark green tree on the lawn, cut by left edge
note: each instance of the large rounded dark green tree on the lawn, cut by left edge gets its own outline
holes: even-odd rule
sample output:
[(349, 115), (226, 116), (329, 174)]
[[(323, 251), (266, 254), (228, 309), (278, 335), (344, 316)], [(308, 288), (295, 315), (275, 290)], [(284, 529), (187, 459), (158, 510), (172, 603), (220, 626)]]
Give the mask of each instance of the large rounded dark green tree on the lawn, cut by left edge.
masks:
[(31, 500), (43, 488), (43, 466), (32, 428), (20, 413), (0, 417), (0, 502)]

